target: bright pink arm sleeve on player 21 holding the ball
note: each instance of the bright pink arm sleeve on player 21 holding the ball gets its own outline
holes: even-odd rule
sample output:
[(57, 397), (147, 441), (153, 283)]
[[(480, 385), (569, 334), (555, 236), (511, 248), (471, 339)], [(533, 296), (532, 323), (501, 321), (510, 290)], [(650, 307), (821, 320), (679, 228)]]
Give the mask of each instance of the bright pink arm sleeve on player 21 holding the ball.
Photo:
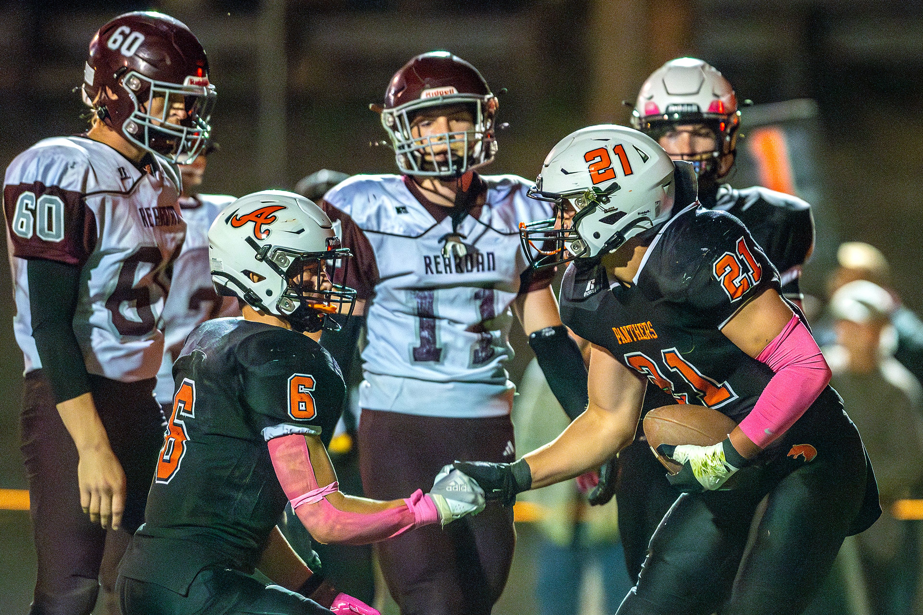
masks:
[(797, 315), (756, 358), (775, 375), (763, 389), (740, 431), (760, 448), (785, 433), (830, 382), (830, 367)]

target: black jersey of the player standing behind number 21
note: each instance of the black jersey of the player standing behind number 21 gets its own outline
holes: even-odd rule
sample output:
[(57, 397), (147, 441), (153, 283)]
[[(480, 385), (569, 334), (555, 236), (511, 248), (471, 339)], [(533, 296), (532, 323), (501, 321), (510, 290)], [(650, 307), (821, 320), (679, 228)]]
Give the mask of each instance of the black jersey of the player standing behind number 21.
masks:
[(807, 203), (761, 186), (737, 190), (726, 183), (716, 192), (702, 191), (699, 199), (703, 207), (743, 222), (779, 272), (785, 297), (801, 299), (798, 278), (814, 250), (814, 218)]

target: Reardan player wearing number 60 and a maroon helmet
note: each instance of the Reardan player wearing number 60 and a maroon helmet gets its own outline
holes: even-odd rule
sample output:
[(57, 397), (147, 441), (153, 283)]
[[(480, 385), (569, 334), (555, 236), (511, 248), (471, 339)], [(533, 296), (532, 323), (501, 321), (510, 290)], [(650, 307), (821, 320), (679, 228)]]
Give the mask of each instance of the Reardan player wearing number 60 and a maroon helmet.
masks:
[(155, 12), (102, 26), (83, 77), (88, 133), (40, 141), (4, 180), (36, 615), (89, 614), (101, 586), (118, 612), (115, 568), (162, 441), (157, 325), (186, 232), (172, 162), (202, 147), (215, 96), (195, 35)]

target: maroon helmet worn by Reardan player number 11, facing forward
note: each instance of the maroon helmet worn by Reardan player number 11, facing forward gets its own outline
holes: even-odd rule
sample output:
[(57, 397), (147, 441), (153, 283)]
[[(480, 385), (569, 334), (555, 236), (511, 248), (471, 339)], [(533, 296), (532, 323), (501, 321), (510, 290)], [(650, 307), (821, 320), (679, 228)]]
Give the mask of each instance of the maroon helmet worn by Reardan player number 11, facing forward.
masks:
[[(471, 131), (423, 138), (414, 138), (411, 134), (416, 112), (459, 103), (472, 107), (474, 126)], [(391, 77), (385, 90), (381, 124), (391, 137), (402, 173), (458, 177), (494, 160), (497, 154), (494, 136), (497, 106), (497, 98), (473, 65), (449, 52), (422, 53)], [(456, 143), (462, 147), (451, 148)], [(450, 156), (446, 160), (437, 160), (433, 151), (436, 144), (448, 144)]]

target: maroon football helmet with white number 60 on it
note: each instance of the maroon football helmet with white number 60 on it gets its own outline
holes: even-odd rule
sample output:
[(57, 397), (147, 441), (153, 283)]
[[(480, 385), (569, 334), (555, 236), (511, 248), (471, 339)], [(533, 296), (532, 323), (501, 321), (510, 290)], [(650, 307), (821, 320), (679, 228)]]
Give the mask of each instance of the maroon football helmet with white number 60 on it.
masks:
[[(173, 162), (195, 160), (211, 130), (215, 88), (205, 50), (183, 22), (162, 13), (126, 13), (96, 32), (82, 96), (114, 131)], [(177, 96), (186, 101), (186, 117), (171, 124), (170, 102)], [(162, 111), (152, 109), (158, 98)]]

